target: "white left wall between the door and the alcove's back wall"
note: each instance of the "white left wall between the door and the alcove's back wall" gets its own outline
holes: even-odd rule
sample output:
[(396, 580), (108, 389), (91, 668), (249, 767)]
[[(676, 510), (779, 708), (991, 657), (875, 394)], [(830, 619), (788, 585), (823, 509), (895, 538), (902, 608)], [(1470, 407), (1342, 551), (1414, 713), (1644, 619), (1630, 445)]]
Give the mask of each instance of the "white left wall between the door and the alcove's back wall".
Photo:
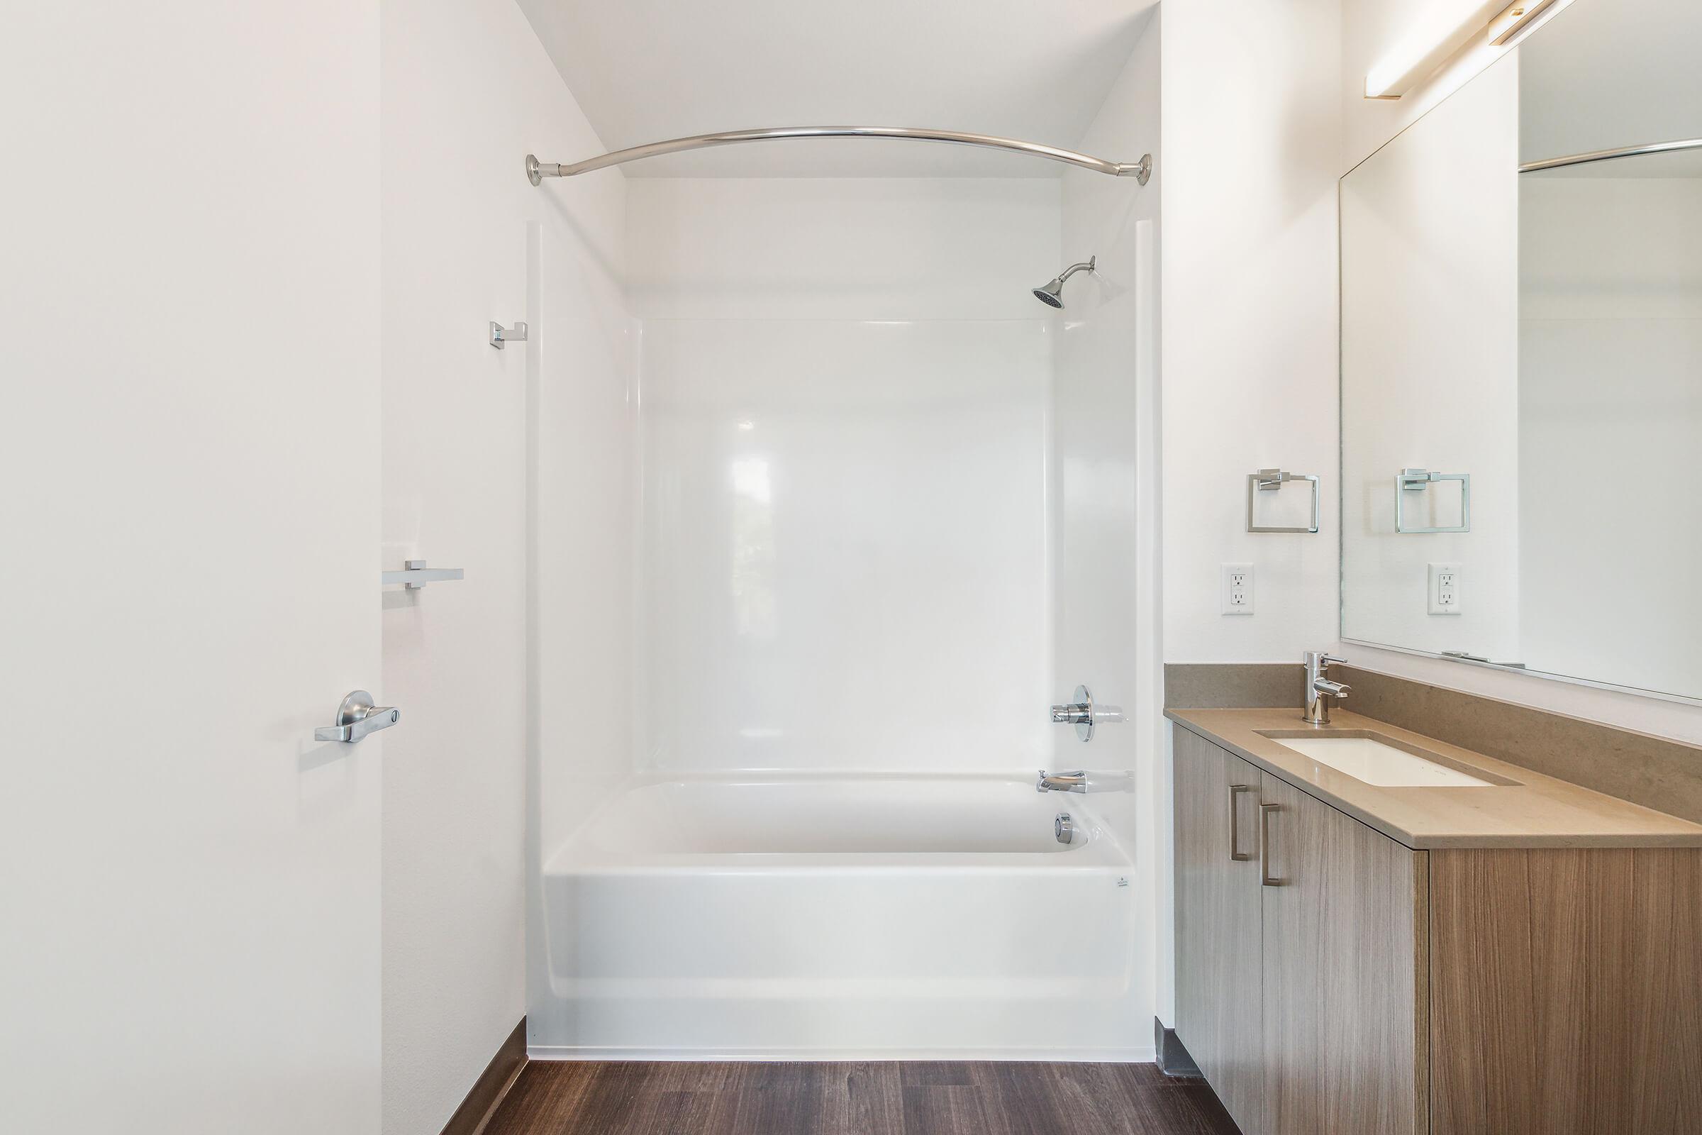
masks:
[[(543, 786), (570, 810), (594, 796), (589, 769), (628, 764), (618, 679), (560, 670), (563, 657), (621, 669), (630, 621), (603, 582), (630, 573), (626, 526), (558, 528), (606, 492), (568, 476), (585, 424), (592, 478), (616, 493), (631, 449), (623, 412), (603, 420), (611, 390), (625, 405), (606, 349), (625, 334), (625, 179), (526, 182), (528, 151), (601, 145), (511, 0), (388, 0), (381, 70), (383, 558), (466, 568), (463, 582), (383, 599), (385, 687), (405, 711), (386, 739), (383, 1130), (417, 1135), (443, 1126), (526, 1012), (528, 414), (545, 415), (550, 448)], [(528, 318), (528, 221), (541, 225), (551, 279), (594, 298), (553, 296), (529, 344), (494, 351), (488, 320)], [(579, 625), (577, 606), (616, 618)], [(589, 715), (585, 696), (611, 704)]]

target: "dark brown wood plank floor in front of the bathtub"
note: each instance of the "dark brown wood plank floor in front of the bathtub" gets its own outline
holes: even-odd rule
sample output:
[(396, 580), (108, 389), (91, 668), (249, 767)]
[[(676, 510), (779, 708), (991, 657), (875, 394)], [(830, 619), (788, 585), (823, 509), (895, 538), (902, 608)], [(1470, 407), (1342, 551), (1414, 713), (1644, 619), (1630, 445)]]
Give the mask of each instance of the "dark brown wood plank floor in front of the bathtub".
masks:
[(1237, 1135), (1151, 1064), (550, 1062), (485, 1135)]

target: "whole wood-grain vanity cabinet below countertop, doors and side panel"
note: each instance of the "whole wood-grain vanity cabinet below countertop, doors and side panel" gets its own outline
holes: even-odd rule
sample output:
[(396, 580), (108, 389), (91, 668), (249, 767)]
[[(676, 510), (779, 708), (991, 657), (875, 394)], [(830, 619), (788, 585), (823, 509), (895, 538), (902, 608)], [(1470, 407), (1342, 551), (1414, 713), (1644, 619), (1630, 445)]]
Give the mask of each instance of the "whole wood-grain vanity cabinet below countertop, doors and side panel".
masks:
[(1702, 1135), (1702, 847), (1414, 851), (1174, 752), (1176, 1035), (1242, 1135)]

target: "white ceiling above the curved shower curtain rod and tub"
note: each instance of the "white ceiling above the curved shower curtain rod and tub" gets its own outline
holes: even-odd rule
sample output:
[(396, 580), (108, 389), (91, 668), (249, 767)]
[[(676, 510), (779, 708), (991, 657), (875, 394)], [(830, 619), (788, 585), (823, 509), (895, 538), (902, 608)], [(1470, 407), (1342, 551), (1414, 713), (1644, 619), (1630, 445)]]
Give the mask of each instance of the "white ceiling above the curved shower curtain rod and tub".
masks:
[[(1071, 148), (1156, 3), (517, 2), (609, 150), (762, 126), (933, 126)], [(1064, 167), (858, 138), (751, 143), (621, 168), (630, 177), (1055, 177)]]

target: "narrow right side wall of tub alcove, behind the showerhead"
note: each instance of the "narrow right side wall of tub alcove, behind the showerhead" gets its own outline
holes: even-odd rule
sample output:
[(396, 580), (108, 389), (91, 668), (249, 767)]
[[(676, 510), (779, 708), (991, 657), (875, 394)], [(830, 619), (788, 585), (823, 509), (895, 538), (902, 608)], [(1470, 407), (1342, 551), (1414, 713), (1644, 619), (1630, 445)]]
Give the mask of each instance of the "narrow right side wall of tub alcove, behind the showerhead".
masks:
[[(1052, 730), (1047, 767), (1134, 769), (1130, 796), (1096, 796), (1135, 859), (1134, 1012), (1169, 987), (1171, 859), (1168, 721), (1159, 643), (1159, 14), (1142, 29), (1081, 140), (1089, 153), (1151, 153), (1147, 185), (1065, 170), (1064, 257), (1098, 257), (1057, 313), (1052, 383), (1052, 689), (1077, 682), (1123, 706), (1086, 745)], [(1161, 977), (1162, 975), (1162, 977)], [(1168, 997), (1168, 994), (1166, 994)]]

